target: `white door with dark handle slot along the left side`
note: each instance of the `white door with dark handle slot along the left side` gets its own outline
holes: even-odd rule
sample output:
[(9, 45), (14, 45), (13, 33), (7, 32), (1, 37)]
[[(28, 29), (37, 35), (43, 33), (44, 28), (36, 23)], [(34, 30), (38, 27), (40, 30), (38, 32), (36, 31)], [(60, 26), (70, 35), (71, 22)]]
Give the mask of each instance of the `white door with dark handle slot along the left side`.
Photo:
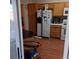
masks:
[(10, 59), (24, 59), (20, 0), (10, 0)]

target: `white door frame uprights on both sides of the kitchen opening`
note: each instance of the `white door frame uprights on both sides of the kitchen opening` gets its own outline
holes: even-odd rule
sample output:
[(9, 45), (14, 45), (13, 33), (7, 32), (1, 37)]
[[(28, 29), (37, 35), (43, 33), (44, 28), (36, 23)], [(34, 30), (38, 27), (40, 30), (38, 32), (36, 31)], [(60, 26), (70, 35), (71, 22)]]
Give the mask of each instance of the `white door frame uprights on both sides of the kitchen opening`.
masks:
[[(18, 0), (18, 17), (19, 17), (19, 35), (21, 39), (21, 49), (22, 49), (22, 59), (24, 59), (24, 47), (23, 47), (23, 33), (22, 33), (22, 20), (21, 20), (21, 5), (20, 0)], [(69, 21), (67, 21), (67, 30), (66, 30), (66, 37), (64, 43), (64, 54), (63, 59), (69, 59)]]

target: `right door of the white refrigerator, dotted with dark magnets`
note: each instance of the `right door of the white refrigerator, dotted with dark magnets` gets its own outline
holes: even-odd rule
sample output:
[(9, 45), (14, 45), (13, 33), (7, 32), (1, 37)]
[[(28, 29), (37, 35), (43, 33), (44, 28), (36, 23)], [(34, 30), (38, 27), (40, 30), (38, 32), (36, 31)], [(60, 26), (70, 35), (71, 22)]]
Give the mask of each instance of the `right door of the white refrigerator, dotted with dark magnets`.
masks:
[(44, 37), (50, 37), (50, 24), (52, 19), (52, 12), (51, 10), (45, 10), (43, 11), (43, 33), (42, 36)]

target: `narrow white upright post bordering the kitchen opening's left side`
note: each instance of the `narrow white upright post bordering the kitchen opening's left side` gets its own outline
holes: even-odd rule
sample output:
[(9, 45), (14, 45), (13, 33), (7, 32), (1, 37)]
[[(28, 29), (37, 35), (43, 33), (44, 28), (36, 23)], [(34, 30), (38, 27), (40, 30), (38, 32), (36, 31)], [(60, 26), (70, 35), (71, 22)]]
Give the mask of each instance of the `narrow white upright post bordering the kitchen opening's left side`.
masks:
[(23, 32), (22, 32), (22, 18), (21, 18), (21, 3), (20, 0), (16, 0), (17, 4), (17, 16), (18, 16), (18, 27), (19, 27), (19, 43), (20, 43), (20, 57), (24, 59), (24, 47), (23, 47)]

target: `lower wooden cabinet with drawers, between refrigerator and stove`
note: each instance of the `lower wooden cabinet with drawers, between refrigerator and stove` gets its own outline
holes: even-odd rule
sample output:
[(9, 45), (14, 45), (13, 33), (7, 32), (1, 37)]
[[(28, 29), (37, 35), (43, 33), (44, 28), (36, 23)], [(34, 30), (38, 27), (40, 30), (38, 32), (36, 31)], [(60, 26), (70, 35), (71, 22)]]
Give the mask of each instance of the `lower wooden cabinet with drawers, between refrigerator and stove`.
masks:
[(50, 35), (53, 38), (60, 39), (61, 37), (61, 25), (51, 25)]

